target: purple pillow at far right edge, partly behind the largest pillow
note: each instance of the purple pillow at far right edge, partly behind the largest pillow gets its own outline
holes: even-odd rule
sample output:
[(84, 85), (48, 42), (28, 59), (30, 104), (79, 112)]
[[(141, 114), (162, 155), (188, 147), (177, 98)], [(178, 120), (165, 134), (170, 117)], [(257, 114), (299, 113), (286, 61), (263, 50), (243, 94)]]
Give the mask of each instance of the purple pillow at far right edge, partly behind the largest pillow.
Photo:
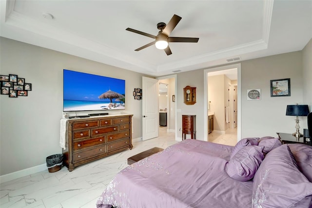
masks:
[(288, 144), (288, 146), (297, 161), (298, 169), (312, 183), (312, 146), (304, 144)]

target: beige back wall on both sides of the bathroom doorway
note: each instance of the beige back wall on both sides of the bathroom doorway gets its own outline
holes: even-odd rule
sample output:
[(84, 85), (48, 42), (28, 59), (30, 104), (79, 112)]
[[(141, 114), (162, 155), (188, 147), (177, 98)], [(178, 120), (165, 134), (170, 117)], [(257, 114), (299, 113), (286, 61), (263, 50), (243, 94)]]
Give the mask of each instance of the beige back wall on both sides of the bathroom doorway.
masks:
[[(295, 130), (294, 118), (285, 114), (287, 104), (303, 103), (302, 74), (301, 51), (241, 62), (241, 112), (238, 112), (241, 114), (241, 138), (276, 137), (276, 132), (292, 133)], [(177, 74), (177, 129), (181, 128), (183, 113), (196, 114), (196, 134), (199, 140), (205, 140), (204, 76), (204, 69)], [(283, 78), (291, 79), (291, 96), (271, 97), (270, 80)], [(186, 85), (197, 87), (195, 105), (183, 104), (183, 88)], [(261, 89), (261, 100), (247, 101), (247, 89)], [(306, 118), (301, 119), (301, 128), (307, 128)]]

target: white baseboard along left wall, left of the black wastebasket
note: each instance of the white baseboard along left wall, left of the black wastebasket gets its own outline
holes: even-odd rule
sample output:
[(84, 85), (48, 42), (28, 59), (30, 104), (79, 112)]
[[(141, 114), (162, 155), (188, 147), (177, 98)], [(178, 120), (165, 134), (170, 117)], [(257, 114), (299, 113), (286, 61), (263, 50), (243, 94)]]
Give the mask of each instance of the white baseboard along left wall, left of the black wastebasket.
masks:
[(13, 173), (1, 175), (0, 176), (0, 183), (12, 181), (12, 180), (18, 179), (20, 177), (24, 177), (24, 176), (31, 175), (34, 173), (38, 173), (40, 171), (47, 170), (47, 169), (48, 169), (47, 165), (42, 164), (39, 166), (34, 166), (34, 167), (29, 167), (29, 168), (26, 168), (23, 170), (19, 170), (19, 171), (13, 172)]

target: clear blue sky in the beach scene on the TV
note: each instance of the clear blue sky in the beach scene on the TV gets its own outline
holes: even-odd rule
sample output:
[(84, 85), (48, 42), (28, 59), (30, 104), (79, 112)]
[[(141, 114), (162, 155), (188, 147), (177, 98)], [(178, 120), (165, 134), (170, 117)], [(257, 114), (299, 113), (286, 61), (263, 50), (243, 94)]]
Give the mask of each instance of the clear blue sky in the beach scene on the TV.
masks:
[(64, 69), (63, 98), (75, 101), (109, 101), (98, 96), (108, 90), (125, 95), (125, 81)]

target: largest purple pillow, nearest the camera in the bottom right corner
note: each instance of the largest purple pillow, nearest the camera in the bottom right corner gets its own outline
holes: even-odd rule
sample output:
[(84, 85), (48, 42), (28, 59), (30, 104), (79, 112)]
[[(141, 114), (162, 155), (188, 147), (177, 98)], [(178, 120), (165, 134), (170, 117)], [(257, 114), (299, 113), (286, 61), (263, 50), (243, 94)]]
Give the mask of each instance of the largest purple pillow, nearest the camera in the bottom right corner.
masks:
[(253, 208), (308, 208), (312, 183), (298, 170), (285, 144), (270, 151), (254, 175)]

